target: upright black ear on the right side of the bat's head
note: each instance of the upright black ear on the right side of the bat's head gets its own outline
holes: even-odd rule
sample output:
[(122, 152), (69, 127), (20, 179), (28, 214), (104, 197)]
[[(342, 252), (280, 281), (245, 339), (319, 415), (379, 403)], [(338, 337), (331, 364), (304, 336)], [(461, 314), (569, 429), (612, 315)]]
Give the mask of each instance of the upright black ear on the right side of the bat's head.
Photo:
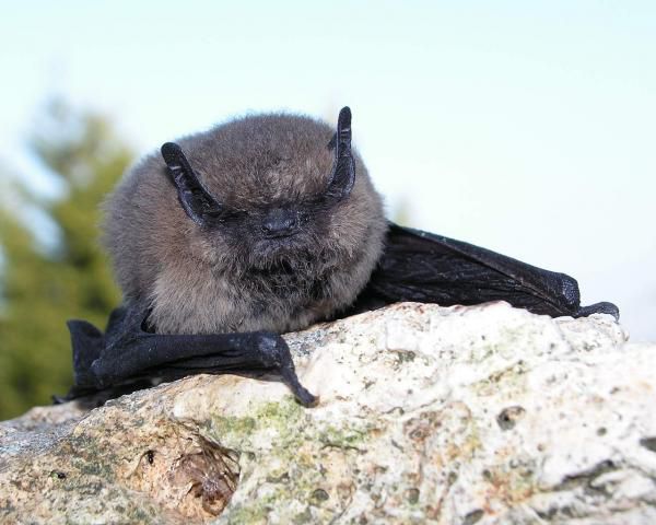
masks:
[(337, 133), (328, 143), (335, 142), (335, 164), (326, 195), (333, 200), (349, 196), (355, 183), (355, 161), (351, 153), (351, 109), (342, 107), (337, 119)]

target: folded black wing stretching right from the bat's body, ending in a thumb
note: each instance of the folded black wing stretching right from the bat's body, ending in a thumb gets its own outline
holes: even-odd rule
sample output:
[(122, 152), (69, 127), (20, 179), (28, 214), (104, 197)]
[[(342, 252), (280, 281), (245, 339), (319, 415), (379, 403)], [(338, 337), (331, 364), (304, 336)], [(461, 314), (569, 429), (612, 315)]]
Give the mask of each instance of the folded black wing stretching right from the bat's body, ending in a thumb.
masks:
[(348, 314), (399, 301), (472, 305), (507, 301), (536, 314), (619, 317), (612, 303), (581, 306), (576, 280), (433, 233), (390, 223), (377, 268)]

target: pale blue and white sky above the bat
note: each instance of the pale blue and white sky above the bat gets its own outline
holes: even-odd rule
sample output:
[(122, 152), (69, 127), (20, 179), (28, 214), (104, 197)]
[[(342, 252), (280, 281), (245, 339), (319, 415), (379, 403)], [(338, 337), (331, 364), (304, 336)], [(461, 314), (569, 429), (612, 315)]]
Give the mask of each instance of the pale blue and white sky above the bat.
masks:
[(245, 112), (335, 119), (390, 214), (565, 271), (656, 339), (656, 3), (3, 2), (0, 158), (52, 93), (145, 152)]

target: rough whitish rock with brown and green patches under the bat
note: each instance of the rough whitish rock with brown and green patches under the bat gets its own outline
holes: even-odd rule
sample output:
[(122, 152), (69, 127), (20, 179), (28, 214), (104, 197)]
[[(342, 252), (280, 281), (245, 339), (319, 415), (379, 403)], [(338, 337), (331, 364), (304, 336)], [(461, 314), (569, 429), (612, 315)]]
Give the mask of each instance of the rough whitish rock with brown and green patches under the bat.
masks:
[(610, 316), (398, 304), (195, 376), (0, 425), (2, 523), (656, 523), (656, 345)]

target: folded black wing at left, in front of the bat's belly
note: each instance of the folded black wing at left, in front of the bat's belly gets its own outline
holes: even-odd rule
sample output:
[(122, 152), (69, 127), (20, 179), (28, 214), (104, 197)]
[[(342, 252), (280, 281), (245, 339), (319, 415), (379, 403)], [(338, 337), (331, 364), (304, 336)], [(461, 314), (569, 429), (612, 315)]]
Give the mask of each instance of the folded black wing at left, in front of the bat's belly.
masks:
[(138, 304), (116, 308), (105, 334), (85, 320), (69, 320), (74, 386), (59, 400), (103, 392), (106, 398), (112, 398), (152, 386), (153, 378), (171, 381), (200, 373), (273, 372), (303, 405), (316, 402), (298, 382), (290, 350), (279, 335), (265, 331), (153, 334), (147, 329), (148, 315), (148, 308)]

